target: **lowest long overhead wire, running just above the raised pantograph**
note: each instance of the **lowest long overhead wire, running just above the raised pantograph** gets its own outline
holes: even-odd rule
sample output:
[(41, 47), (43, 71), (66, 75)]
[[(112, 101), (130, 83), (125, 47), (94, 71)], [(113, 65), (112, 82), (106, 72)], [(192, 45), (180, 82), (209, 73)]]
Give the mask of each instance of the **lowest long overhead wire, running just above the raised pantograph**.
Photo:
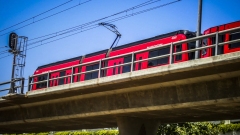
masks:
[[(159, 5), (159, 6), (155, 6), (155, 7), (152, 7), (152, 8), (145, 9), (145, 10), (141, 10), (141, 11), (138, 11), (138, 12), (135, 12), (135, 13), (131, 13), (131, 14), (129, 14), (129, 15), (117, 17), (117, 18), (108, 20), (108, 21), (106, 21), (106, 22), (108, 22), (108, 23), (116, 22), (116, 21), (119, 21), (119, 20), (122, 20), (122, 19), (125, 19), (125, 18), (129, 18), (129, 17), (135, 16), (135, 15), (139, 15), (139, 14), (142, 14), (142, 13), (145, 13), (145, 12), (149, 12), (149, 11), (151, 11), (151, 10), (155, 10), (155, 9), (158, 9), (158, 8), (161, 8), (161, 7), (164, 7), (164, 6), (167, 6), (167, 5), (170, 5), (170, 4), (179, 2), (179, 1), (180, 1), (180, 0), (175, 0), (175, 1), (172, 1), (172, 2), (169, 2), (169, 3), (166, 3), (166, 4), (162, 4), (162, 5)], [(64, 38), (67, 38), (67, 37), (70, 37), (70, 36), (79, 34), (79, 33), (81, 33), (81, 32), (85, 32), (85, 31), (88, 31), (88, 30), (97, 28), (97, 27), (99, 27), (99, 25), (96, 24), (96, 25), (91, 25), (91, 26), (88, 26), (88, 27), (89, 27), (89, 28), (86, 29), (86, 30), (81, 30), (80, 32), (76, 32), (76, 33), (73, 33), (73, 34), (70, 34), (70, 35), (67, 35), (67, 36), (64, 36), (64, 37), (61, 37), (61, 38), (58, 38), (58, 39), (55, 39), (55, 40), (46, 42), (46, 43), (42, 43), (42, 41), (43, 41), (43, 40), (42, 40), (42, 41), (40, 41), (40, 42), (41, 42), (40, 45), (36, 45), (36, 46), (30, 47), (30, 48), (28, 48), (27, 50), (30, 50), (30, 49), (33, 49), (33, 48), (36, 48), (36, 47), (39, 47), (39, 46), (42, 46), (42, 45), (46, 45), (46, 44), (52, 43), (52, 42), (55, 42), (55, 41), (58, 41), (58, 40), (61, 40), (61, 39), (64, 39)], [(36, 43), (32, 43), (32, 44), (30, 43), (30, 44), (28, 44), (28, 46), (33, 45), (33, 44), (36, 44)], [(10, 55), (8, 55), (8, 56), (10, 56)], [(8, 56), (5, 56), (5, 57), (8, 57)], [(5, 58), (5, 57), (1, 57), (0, 59)]]

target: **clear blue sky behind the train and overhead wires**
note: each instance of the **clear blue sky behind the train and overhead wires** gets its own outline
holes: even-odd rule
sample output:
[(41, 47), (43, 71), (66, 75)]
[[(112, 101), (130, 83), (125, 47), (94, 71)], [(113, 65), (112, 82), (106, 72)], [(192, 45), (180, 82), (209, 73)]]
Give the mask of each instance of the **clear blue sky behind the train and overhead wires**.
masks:
[[(29, 19), (66, 1), (68, 0), (0, 0), (0, 30)], [(85, 1), (87, 0), (72, 0), (56, 10), (34, 18), (34, 20), (39, 20)], [(20, 36), (27, 36), (29, 39), (33, 39), (112, 15), (146, 1), (147, 0), (92, 0), (61, 14), (16, 30), (15, 32)], [(172, 1), (174, 0), (161, 0), (139, 10), (133, 10), (121, 15), (131, 14)], [(240, 20), (239, 7), (239, 0), (203, 0), (202, 31), (212, 26)], [(197, 11), (198, 0), (181, 0), (180, 2), (150, 12), (114, 22), (113, 24), (118, 27), (119, 32), (122, 34), (118, 45), (180, 29), (196, 31)], [(31, 23), (32, 21), (33, 19), (0, 32), (0, 35), (6, 32), (12, 32), (16, 28)], [(29, 75), (32, 75), (34, 70), (43, 64), (108, 49), (114, 38), (115, 35), (106, 28), (97, 27), (28, 50), (24, 76), (27, 78)], [(42, 43), (44, 42), (48, 41), (43, 41)], [(8, 45), (8, 35), (0, 36), (0, 52), (7, 49), (2, 48), (6, 45)], [(6, 55), (7, 54), (2, 54), (0, 57)], [(0, 59), (0, 82), (10, 80), (11, 64), (12, 56)], [(2, 94), (6, 93), (0, 93), (0, 95)]]

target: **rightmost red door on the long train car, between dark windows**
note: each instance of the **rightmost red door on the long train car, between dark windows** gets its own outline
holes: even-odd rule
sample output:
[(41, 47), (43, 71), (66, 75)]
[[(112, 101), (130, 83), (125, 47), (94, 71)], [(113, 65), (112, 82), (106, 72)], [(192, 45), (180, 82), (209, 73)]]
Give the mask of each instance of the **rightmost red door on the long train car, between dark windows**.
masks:
[[(135, 55), (135, 61), (143, 60), (148, 58), (148, 52), (142, 52)], [(134, 64), (134, 70), (141, 70), (148, 67), (148, 61), (136, 62)]]

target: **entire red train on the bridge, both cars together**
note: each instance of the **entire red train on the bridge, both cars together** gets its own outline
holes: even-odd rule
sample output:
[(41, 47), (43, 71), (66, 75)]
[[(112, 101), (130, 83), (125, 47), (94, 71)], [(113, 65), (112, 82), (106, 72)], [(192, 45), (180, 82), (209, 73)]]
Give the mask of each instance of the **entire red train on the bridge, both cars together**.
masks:
[[(231, 28), (235, 28), (235, 27), (239, 27), (239, 26), (240, 26), (240, 21), (237, 21), (237, 22), (233, 22), (233, 23), (228, 23), (228, 24), (224, 24), (224, 25), (220, 25), (220, 26), (211, 27), (211, 28), (205, 30), (203, 34), (206, 35), (206, 34), (210, 34), (210, 33), (215, 33), (217, 31), (223, 31), (223, 30), (227, 30), (227, 29), (231, 29)], [(156, 47), (158, 45), (164, 45), (164, 44), (168, 44), (171, 42), (177, 42), (180, 40), (189, 39), (192, 37), (195, 37), (194, 32), (190, 32), (187, 30), (178, 30), (178, 31), (167, 33), (167, 34), (158, 35), (158, 36), (155, 36), (152, 38), (148, 38), (148, 39), (136, 41), (133, 43), (121, 45), (121, 46), (112, 48), (112, 50), (110, 52), (108, 52), (108, 50), (106, 49), (106, 50), (102, 50), (99, 52), (87, 54), (85, 56), (78, 56), (75, 58), (39, 66), (37, 68), (37, 70), (34, 72), (34, 75), (46, 73), (48, 71), (63, 69), (63, 68), (66, 70), (59, 70), (59, 71), (51, 72), (49, 75), (42, 74), (40, 76), (33, 77), (33, 83), (35, 83), (35, 84), (32, 85), (31, 90), (38, 90), (38, 89), (46, 88), (47, 85), (48, 85), (48, 87), (53, 87), (53, 86), (58, 86), (58, 85), (62, 85), (62, 84), (68, 84), (71, 81), (72, 82), (81, 82), (81, 81), (85, 81), (85, 80), (98, 78), (98, 71), (75, 75), (72, 80), (70, 78), (70, 75), (72, 74), (72, 71), (73, 71), (73, 74), (76, 74), (76, 73), (81, 73), (81, 72), (83, 73), (86, 71), (99, 69), (99, 63), (83, 65), (81, 67), (74, 67), (73, 69), (71, 69), (71, 68), (67, 69), (67, 68), (72, 67), (74, 65), (78, 65), (80, 63), (84, 64), (84, 63), (89, 63), (92, 61), (104, 59), (104, 58), (106, 58), (107, 52), (108, 52), (108, 57), (113, 57), (113, 56), (117, 56), (117, 55), (136, 52), (136, 51), (143, 50), (146, 48)], [(221, 42), (231, 41), (231, 40), (235, 40), (235, 39), (240, 39), (240, 32), (226, 33), (226, 34), (220, 35), (218, 42), (221, 43)], [(205, 41), (205, 45), (212, 45), (212, 44), (215, 44), (215, 42), (216, 42), (215, 37), (207, 38)], [(195, 48), (195, 42), (183, 43), (183, 44), (174, 46), (173, 52), (185, 51), (185, 50), (189, 50), (189, 49), (193, 49), (193, 48)], [(225, 53), (240, 51), (240, 43), (224, 44), (223, 46), (219, 46), (218, 51), (219, 51), (218, 54), (225, 54)], [(170, 47), (166, 47), (166, 48), (162, 48), (162, 49), (155, 49), (155, 50), (151, 50), (151, 51), (144, 51), (144, 52), (135, 54), (134, 60), (142, 60), (142, 59), (147, 59), (147, 58), (151, 58), (151, 57), (156, 57), (156, 56), (160, 56), (160, 55), (164, 55), (164, 54), (169, 54), (169, 52), (170, 52)], [(208, 48), (208, 49), (205, 49), (204, 51), (200, 51), (200, 58), (209, 57), (209, 56), (213, 56), (213, 55), (215, 55), (215, 48)], [(194, 58), (195, 58), (195, 52), (183, 53), (180, 55), (175, 55), (173, 57), (173, 63), (188, 61), (188, 60), (191, 60)], [(107, 62), (104, 62), (103, 64), (101, 64), (101, 67), (107, 67), (107, 66), (109, 67), (109, 66), (119, 65), (119, 64), (128, 63), (131, 61), (132, 61), (131, 55), (123, 56), (123, 57), (110, 59)], [(161, 65), (166, 65), (166, 64), (169, 64), (169, 57), (139, 62), (134, 65), (133, 70), (135, 71), (135, 70), (146, 69), (146, 68), (151, 68), (151, 67), (161, 66)], [(101, 72), (101, 77), (121, 74), (121, 73), (125, 73), (125, 72), (130, 72), (130, 71), (131, 71), (131, 65), (118, 66), (115, 68), (109, 68), (109, 69), (103, 70)], [(69, 75), (69, 77), (54, 79), (54, 78), (59, 78), (62, 76), (67, 76), (67, 75)], [(48, 76), (49, 76), (49, 78), (48, 78)], [(47, 84), (47, 82), (36, 83), (36, 82), (40, 82), (40, 81), (45, 81), (47, 79), (50, 79), (48, 84)]]

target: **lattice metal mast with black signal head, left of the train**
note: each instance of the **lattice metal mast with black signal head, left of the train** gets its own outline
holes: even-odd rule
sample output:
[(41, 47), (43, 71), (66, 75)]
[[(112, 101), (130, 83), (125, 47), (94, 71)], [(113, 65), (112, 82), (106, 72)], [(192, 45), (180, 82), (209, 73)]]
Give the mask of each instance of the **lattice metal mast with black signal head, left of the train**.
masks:
[[(12, 65), (12, 75), (11, 81), (0, 83), (1, 85), (10, 84), (10, 88), (0, 90), (7, 91), (8, 95), (3, 96), (4, 99), (11, 99), (15, 97), (24, 97), (24, 67), (27, 51), (27, 37), (18, 36), (16, 33), (11, 33), (9, 35), (9, 53), (13, 54), (13, 65)], [(20, 41), (20, 42), (18, 42)]]

